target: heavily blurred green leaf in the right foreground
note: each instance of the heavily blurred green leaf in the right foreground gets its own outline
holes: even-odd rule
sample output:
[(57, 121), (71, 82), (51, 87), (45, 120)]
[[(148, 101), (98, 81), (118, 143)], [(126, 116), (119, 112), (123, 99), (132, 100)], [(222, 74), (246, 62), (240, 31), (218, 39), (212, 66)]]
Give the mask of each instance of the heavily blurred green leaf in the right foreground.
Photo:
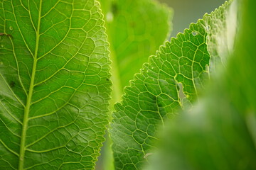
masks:
[(256, 3), (239, 2), (240, 32), (227, 69), (195, 109), (169, 122), (150, 169), (256, 169)]

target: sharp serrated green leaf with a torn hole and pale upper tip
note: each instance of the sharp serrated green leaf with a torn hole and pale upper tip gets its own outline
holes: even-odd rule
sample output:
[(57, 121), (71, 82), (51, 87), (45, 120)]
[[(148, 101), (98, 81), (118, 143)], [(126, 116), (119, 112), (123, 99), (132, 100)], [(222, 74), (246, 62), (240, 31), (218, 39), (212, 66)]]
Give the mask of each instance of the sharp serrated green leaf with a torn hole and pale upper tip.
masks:
[(171, 38), (135, 74), (113, 115), (116, 169), (142, 169), (158, 140), (159, 125), (196, 101), (210, 73), (225, 62), (225, 55), (232, 50), (236, 28), (230, 33), (230, 20), (236, 21), (236, 15), (230, 10), (230, 2), (226, 2), (192, 23), (177, 38)]

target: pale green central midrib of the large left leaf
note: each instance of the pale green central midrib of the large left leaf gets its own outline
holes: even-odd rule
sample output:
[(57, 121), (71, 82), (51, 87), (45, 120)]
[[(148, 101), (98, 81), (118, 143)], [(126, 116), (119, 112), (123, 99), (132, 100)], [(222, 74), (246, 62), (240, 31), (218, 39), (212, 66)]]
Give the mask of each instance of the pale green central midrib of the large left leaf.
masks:
[(38, 58), (38, 45), (39, 45), (39, 31), (40, 31), (40, 23), (41, 23), (41, 7), (42, 7), (42, 0), (40, 1), (39, 5), (39, 11), (38, 11), (38, 27), (36, 30), (36, 49), (35, 54), (33, 56), (33, 68), (32, 68), (32, 74), (31, 74), (31, 83), (28, 90), (28, 97), (26, 100), (26, 107), (24, 109), (24, 115), (23, 115), (23, 127), (21, 131), (21, 145), (20, 145), (20, 153), (19, 153), (19, 159), (18, 159), (18, 170), (23, 170), (24, 165), (24, 157), (25, 157), (25, 143), (26, 143), (26, 130), (28, 128), (28, 114), (31, 106), (31, 98), (33, 95), (33, 87), (34, 87), (34, 80), (36, 75), (36, 64), (37, 64), (37, 58)]

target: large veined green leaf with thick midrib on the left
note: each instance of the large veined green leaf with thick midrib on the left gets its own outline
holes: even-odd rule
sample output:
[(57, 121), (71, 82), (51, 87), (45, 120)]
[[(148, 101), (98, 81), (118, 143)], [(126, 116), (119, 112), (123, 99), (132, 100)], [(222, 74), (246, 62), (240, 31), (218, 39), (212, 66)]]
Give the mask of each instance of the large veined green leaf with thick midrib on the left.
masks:
[(99, 6), (0, 1), (0, 169), (94, 169), (111, 84)]

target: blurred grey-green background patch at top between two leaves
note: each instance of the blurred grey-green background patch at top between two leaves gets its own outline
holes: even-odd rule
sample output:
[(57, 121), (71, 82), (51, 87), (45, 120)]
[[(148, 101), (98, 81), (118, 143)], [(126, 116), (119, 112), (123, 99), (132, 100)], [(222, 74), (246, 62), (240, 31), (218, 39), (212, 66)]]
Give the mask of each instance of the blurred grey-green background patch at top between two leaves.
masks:
[(224, 0), (158, 0), (168, 4), (174, 9), (173, 32), (171, 36), (176, 37), (178, 32), (183, 33), (190, 23), (196, 23), (203, 14), (214, 11), (222, 5)]

